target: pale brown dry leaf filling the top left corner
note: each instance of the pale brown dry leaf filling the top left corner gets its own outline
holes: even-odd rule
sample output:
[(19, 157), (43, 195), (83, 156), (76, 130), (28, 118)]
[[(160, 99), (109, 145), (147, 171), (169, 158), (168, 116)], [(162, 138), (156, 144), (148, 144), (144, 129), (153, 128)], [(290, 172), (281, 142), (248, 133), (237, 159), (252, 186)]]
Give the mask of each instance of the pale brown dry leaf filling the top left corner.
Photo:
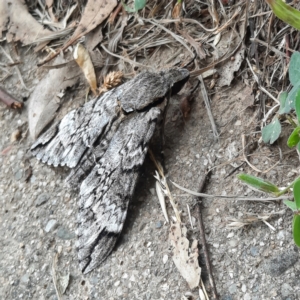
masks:
[(8, 42), (21, 41), (25, 45), (52, 34), (33, 18), (21, 0), (0, 1), (0, 37), (5, 30)]

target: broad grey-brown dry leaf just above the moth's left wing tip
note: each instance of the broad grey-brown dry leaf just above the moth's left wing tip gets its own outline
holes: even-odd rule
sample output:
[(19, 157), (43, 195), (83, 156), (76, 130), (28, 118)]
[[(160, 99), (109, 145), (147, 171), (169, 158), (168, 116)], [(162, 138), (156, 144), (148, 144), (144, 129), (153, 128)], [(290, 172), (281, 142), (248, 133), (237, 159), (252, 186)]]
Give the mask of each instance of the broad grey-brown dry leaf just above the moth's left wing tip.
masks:
[[(65, 60), (59, 56), (54, 64), (64, 62)], [(80, 74), (80, 70), (75, 63), (74, 65), (50, 70), (31, 94), (28, 103), (28, 123), (30, 136), (33, 139), (36, 139), (45, 126), (54, 119), (61, 103), (57, 95), (61, 90), (74, 85), (79, 79), (77, 75)]]

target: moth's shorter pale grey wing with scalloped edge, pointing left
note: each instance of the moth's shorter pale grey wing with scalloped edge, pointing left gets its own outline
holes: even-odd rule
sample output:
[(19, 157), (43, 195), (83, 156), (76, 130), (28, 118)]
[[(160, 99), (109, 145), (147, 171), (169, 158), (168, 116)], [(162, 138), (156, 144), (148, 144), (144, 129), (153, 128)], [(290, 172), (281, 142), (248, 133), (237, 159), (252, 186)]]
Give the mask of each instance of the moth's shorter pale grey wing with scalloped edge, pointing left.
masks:
[(32, 154), (48, 165), (74, 168), (86, 149), (105, 136), (118, 118), (113, 94), (114, 90), (70, 111), (37, 139)]

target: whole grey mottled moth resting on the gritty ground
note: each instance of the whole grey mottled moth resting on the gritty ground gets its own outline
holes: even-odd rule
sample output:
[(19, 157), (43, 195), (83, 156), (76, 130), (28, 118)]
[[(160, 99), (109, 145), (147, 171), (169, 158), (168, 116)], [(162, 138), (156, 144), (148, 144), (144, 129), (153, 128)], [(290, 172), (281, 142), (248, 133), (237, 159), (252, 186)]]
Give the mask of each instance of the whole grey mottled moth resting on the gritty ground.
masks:
[(184, 68), (142, 72), (70, 111), (32, 145), (43, 163), (69, 167), (66, 182), (79, 188), (76, 246), (84, 274), (112, 252), (159, 116), (188, 79)]

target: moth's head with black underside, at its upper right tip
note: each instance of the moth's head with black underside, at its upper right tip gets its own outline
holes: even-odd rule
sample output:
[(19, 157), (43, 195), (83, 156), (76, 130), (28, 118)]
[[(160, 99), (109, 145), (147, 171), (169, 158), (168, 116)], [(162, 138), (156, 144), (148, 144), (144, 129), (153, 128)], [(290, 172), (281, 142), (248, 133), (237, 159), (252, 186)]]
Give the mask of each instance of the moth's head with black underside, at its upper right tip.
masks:
[(169, 83), (171, 95), (177, 94), (189, 80), (190, 72), (183, 68), (172, 68), (162, 71), (162, 75)]

